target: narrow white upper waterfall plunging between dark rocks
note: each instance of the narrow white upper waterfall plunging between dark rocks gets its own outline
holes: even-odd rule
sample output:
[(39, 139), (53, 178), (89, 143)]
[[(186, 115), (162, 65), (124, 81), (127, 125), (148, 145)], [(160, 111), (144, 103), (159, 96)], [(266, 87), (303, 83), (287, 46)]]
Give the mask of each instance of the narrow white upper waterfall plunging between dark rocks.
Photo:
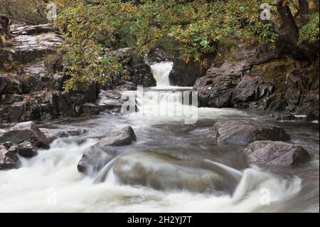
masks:
[(156, 79), (157, 87), (168, 87), (170, 86), (169, 74), (173, 67), (174, 63), (156, 63), (151, 65), (151, 72)]

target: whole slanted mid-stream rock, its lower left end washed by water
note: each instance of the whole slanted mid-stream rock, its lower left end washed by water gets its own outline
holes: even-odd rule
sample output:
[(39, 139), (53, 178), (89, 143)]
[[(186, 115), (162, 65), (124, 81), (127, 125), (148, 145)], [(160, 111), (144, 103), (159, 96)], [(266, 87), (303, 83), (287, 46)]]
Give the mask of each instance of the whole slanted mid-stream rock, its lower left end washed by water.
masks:
[(132, 127), (124, 127), (112, 137), (100, 139), (97, 144), (88, 148), (78, 163), (78, 171), (83, 174), (93, 174), (102, 169), (117, 152), (114, 147), (125, 146), (137, 141), (136, 134)]

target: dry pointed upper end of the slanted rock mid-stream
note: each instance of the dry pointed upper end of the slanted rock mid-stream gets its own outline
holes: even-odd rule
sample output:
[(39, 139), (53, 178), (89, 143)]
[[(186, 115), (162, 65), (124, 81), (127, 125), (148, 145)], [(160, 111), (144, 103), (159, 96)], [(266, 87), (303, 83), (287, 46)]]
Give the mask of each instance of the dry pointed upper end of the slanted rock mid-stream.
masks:
[(120, 132), (112, 137), (105, 137), (100, 139), (95, 146), (106, 147), (106, 146), (125, 146), (132, 144), (132, 142), (137, 141), (136, 134), (131, 126), (124, 127)]

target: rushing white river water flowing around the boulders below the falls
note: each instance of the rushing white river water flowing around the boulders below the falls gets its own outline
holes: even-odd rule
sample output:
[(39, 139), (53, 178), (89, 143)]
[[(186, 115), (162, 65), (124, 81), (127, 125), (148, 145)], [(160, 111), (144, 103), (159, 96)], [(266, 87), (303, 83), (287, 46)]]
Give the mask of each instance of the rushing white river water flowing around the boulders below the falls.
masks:
[[(170, 65), (162, 66), (163, 69), (161, 64), (152, 69), (158, 73), (156, 78), (166, 86), (165, 90), (190, 89), (168, 88)], [(154, 88), (151, 94), (157, 95), (158, 100), (166, 100), (168, 94), (163, 93), (163, 88)], [(0, 171), (0, 212), (319, 212), (318, 124), (299, 120), (272, 122), (266, 120), (269, 113), (259, 110), (198, 108), (198, 121), (190, 125), (185, 124), (183, 117), (150, 115), (167, 104), (144, 102), (145, 115), (99, 115), (38, 122), (46, 130), (81, 127), (90, 130), (90, 134), (57, 139), (38, 156), (22, 159), (20, 169)], [(313, 161), (301, 167), (250, 166), (241, 153), (243, 147), (215, 143), (210, 127), (225, 119), (268, 121), (284, 127), (292, 142), (309, 150)], [(87, 147), (97, 142), (96, 137), (127, 125), (134, 128), (137, 143), (118, 147), (118, 156), (131, 155), (132, 159), (150, 162), (150, 168), (159, 172), (164, 167), (175, 167), (176, 161), (166, 159), (167, 155), (182, 160), (179, 167), (195, 173), (203, 173), (199, 164), (218, 168), (236, 182), (235, 189), (231, 194), (213, 194), (124, 185), (114, 175), (117, 157), (95, 176), (78, 173), (79, 159)]]

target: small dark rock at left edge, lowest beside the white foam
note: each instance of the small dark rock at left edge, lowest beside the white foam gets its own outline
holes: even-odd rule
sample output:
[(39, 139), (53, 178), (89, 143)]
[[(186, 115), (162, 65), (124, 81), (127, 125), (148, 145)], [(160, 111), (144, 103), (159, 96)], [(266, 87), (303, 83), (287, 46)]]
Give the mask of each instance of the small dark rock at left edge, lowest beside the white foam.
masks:
[(21, 167), (21, 161), (16, 152), (10, 152), (0, 146), (0, 170), (18, 169), (19, 167)]

